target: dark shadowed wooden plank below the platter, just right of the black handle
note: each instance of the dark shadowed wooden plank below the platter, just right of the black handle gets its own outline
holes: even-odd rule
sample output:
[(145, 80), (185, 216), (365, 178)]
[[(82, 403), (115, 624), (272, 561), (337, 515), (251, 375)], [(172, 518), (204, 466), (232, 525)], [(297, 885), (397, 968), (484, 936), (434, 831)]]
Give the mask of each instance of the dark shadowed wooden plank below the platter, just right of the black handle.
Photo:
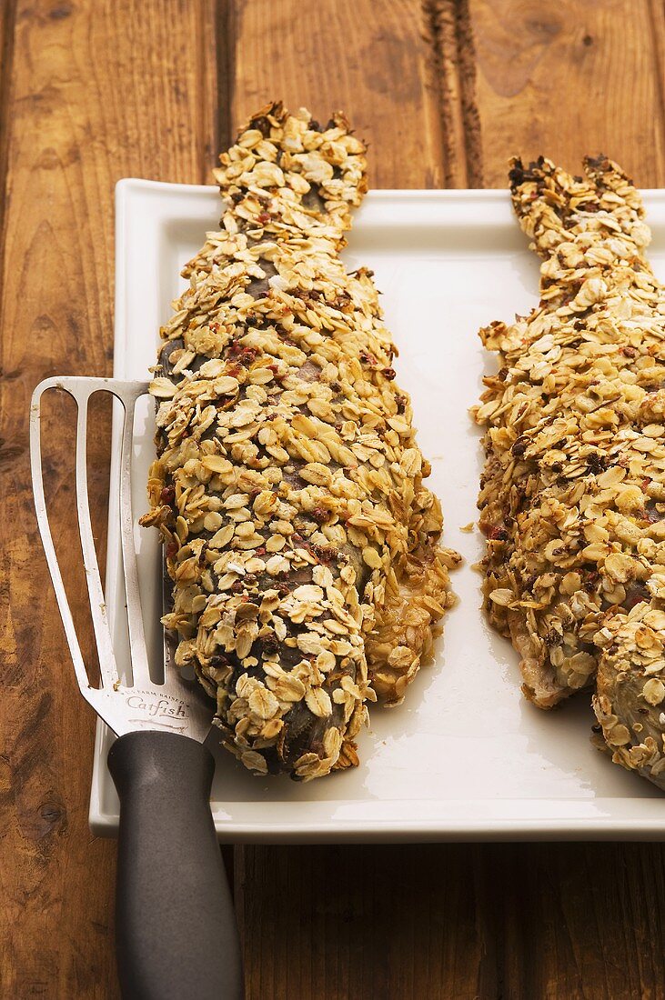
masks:
[(498, 996), (479, 857), (466, 845), (241, 848), (247, 996)]

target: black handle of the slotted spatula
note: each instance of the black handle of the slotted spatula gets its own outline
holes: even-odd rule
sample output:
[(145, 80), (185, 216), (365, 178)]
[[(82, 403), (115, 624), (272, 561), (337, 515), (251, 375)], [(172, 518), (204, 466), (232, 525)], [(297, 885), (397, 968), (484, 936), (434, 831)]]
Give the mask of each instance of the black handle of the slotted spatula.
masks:
[(214, 761), (141, 731), (111, 747), (120, 796), (116, 941), (124, 1000), (241, 1000), (240, 945), (210, 813)]

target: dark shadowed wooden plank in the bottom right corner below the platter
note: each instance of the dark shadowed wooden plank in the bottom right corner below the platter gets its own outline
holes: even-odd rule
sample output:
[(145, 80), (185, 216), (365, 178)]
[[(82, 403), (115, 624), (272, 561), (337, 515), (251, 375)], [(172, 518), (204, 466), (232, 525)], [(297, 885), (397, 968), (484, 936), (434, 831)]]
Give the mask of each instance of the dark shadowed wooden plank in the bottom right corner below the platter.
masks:
[(665, 996), (661, 845), (497, 845), (487, 854), (506, 998)]

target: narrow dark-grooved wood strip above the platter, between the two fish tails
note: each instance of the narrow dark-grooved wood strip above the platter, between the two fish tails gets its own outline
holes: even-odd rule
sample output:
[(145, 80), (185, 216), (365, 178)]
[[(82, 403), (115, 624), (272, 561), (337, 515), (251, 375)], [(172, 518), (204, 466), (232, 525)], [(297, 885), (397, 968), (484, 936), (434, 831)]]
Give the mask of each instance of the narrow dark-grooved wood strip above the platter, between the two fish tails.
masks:
[(441, 118), (444, 187), (483, 187), (476, 56), (468, 0), (422, 0)]

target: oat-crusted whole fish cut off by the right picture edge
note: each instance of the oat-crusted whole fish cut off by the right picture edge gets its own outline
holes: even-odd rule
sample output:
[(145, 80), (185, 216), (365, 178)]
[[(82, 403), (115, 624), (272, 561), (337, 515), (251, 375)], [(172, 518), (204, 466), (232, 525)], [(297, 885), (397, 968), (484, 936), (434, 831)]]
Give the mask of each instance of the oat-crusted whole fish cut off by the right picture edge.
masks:
[(485, 604), (541, 708), (590, 686), (616, 763), (665, 788), (665, 291), (639, 193), (514, 160), (540, 304), (481, 331)]

